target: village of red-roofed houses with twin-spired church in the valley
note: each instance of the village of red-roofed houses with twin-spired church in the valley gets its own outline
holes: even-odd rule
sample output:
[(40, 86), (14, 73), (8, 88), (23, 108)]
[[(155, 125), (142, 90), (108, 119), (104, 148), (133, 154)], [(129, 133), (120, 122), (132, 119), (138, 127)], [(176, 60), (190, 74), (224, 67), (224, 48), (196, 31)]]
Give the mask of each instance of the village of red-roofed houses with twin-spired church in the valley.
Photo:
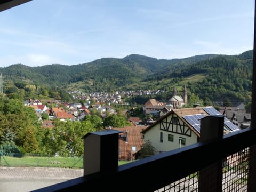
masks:
[[(154, 93), (158, 93), (156, 91)], [(121, 94), (93, 93), (85, 97), (82, 92), (70, 92), (70, 94), (80, 95), (87, 103), (60, 103), (54, 101), (57, 106), (47, 108), (40, 100), (24, 101), (24, 104), (33, 107), (39, 119), (42, 114), (49, 115), (49, 119), (43, 120), (42, 128), (54, 128), (53, 120), (58, 118), (60, 121), (82, 121), (85, 116), (91, 115), (95, 110), (101, 114), (103, 119), (106, 111), (115, 114), (116, 111), (111, 107), (113, 103), (122, 103)], [(127, 92), (127, 94), (154, 94), (150, 91)], [(76, 96), (77, 97), (77, 96)], [(95, 101), (90, 103), (91, 99)], [(142, 121), (134, 116), (134, 107), (124, 110), (123, 115), (127, 117), (132, 126), (126, 127), (105, 127), (105, 129), (119, 130), (119, 160), (133, 161), (138, 159), (138, 151), (147, 140), (150, 140), (155, 151), (154, 154), (164, 153), (165, 151), (192, 145), (200, 138), (200, 119), (209, 115), (222, 115), (224, 119), (224, 134), (237, 130), (245, 129), (250, 126), (250, 108), (245, 109), (242, 102), (236, 106), (220, 106), (219, 110), (212, 106), (197, 106), (185, 108), (187, 102), (187, 89), (183, 88), (183, 95), (177, 95), (176, 87), (173, 89), (173, 96), (167, 103), (162, 103), (156, 99), (150, 99), (143, 105), (143, 114), (146, 121)]]

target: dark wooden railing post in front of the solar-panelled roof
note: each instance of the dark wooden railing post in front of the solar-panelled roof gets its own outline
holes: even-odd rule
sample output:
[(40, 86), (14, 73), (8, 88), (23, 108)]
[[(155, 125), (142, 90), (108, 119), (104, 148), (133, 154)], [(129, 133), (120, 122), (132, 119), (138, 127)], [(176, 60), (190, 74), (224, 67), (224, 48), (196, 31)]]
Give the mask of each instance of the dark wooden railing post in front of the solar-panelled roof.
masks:
[[(221, 138), (223, 136), (223, 128), (224, 116), (222, 115), (210, 115), (202, 118), (200, 123), (200, 141)], [(217, 154), (218, 149), (209, 151), (209, 153)], [(198, 189), (199, 192), (222, 191), (222, 159), (199, 171)]]

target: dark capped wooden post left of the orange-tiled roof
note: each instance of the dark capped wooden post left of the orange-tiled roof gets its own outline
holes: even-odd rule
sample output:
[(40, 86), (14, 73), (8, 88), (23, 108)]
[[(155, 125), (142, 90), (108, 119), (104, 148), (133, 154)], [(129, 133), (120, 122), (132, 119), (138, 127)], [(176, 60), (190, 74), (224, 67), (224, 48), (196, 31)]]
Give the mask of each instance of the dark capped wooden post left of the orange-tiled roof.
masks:
[(84, 136), (84, 175), (117, 171), (118, 136), (122, 132), (102, 130)]

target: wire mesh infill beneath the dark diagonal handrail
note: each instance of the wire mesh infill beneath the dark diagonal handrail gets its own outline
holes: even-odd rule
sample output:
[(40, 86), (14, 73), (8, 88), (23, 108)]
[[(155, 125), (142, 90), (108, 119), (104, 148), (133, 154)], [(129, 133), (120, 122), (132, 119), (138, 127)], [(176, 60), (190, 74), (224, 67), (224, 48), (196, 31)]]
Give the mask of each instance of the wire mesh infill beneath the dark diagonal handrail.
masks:
[[(215, 191), (214, 180), (220, 180), (220, 187), (222, 191), (225, 192), (238, 192), (238, 191), (247, 191), (247, 176), (248, 176), (248, 167), (249, 167), (249, 148), (245, 148), (241, 151), (238, 151), (235, 154), (232, 154), (225, 159), (223, 159), (220, 164), (220, 178), (216, 178), (216, 166), (220, 164), (214, 163), (208, 166), (203, 171), (195, 172), (187, 176), (186, 178), (180, 179), (167, 185), (161, 189), (158, 189), (157, 192), (163, 191), (199, 191), (199, 187), (203, 187), (206, 191)], [(207, 178), (205, 182), (200, 183), (199, 178)], [(202, 181), (202, 180), (201, 180)], [(205, 186), (206, 185), (206, 186)], [(202, 188), (201, 188), (202, 190)]]

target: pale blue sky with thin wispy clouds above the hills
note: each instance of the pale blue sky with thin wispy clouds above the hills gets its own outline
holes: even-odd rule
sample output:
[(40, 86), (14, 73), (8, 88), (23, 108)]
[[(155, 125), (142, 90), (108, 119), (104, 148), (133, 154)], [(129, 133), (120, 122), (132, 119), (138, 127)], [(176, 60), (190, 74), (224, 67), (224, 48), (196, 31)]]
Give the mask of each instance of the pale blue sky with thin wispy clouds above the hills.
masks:
[(32, 0), (0, 12), (0, 67), (253, 49), (253, 0)]

